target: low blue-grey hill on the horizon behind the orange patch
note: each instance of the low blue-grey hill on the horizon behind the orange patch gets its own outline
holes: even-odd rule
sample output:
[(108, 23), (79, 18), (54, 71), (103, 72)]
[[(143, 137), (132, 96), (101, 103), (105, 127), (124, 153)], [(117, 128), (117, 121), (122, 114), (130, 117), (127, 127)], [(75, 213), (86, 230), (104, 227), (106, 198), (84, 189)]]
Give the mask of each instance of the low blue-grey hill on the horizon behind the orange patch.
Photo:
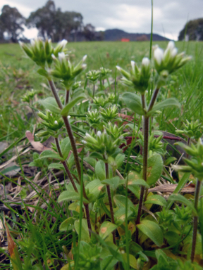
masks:
[[(104, 31), (105, 41), (118, 41), (121, 39), (130, 39), (130, 41), (147, 41), (147, 40), (150, 40), (150, 34), (127, 33), (119, 29), (111, 29), (111, 30)], [(153, 34), (153, 40), (164, 41), (164, 40), (170, 40), (170, 39), (162, 37), (159, 34)]]

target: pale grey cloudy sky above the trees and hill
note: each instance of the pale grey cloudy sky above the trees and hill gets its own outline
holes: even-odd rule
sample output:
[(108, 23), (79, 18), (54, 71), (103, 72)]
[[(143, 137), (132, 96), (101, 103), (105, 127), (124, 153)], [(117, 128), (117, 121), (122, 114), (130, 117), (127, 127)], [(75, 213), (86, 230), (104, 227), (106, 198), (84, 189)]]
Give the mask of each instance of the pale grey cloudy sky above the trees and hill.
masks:
[[(44, 6), (45, 0), (1, 0), (0, 9), (8, 4), (25, 17)], [(132, 33), (149, 33), (151, 0), (55, 0), (62, 11), (77, 11), (83, 23), (92, 23), (97, 30), (118, 28)], [(203, 18), (203, 0), (154, 0), (154, 33), (178, 39), (187, 20)], [(26, 30), (32, 38), (36, 30)]]

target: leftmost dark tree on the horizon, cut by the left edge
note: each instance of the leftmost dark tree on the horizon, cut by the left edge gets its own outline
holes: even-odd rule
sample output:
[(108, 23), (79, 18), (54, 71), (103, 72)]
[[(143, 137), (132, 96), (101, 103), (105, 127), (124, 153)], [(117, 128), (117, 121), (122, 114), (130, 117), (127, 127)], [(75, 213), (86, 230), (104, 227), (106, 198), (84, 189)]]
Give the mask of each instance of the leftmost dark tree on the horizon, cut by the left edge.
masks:
[(3, 6), (0, 15), (1, 35), (6, 32), (12, 42), (18, 42), (18, 37), (24, 31), (25, 18), (17, 8)]

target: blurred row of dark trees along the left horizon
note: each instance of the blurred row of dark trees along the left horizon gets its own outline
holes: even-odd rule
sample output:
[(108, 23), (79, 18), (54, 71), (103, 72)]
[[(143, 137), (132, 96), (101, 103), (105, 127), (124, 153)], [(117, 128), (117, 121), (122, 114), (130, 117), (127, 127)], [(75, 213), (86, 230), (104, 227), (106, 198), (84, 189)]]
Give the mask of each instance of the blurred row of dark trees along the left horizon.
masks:
[(28, 18), (23, 17), (17, 8), (5, 5), (0, 15), (0, 40), (18, 42), (19, 38), (23, 37), (24, 26), (36, 27), (39, 37), (51, 38), (54, 42), (62, 39), (68, 39), (68, 41), (104, 39), (104, 32), (96, 32), (93, 25), (84, 25), (82, 20), (81, 13), (63, 12), (61, 8), (56, 8), (52, 0), (30, 13)]

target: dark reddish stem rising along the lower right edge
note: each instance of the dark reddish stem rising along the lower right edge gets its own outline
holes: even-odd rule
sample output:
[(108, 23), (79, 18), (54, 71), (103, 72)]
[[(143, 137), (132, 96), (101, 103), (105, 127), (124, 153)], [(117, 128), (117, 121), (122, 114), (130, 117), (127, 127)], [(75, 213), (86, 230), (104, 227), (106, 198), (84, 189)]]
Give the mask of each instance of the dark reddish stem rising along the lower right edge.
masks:
[[(200, 191), (201, 181), (197, 179), (196, 190), (195, 190), (195, 210), (197, 210), (198, 200), (199, 200), (199, 191)], [(192, 252), (191, 252), (191, 261), (194, 261), (195, 258), (195, 247), (196, 247), (196, 240), (197, 240), (197, 226), (198, 226), (198, 217), (194, 217), (193, 221), (193, 235), (192, 235)]]

